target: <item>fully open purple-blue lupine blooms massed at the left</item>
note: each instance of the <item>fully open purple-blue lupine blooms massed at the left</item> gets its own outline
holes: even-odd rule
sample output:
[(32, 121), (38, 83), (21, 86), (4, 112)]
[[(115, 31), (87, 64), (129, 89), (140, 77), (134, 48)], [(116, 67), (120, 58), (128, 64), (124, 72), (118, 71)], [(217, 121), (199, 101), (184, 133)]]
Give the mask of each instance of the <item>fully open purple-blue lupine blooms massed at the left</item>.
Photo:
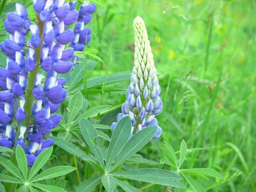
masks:
[[(6, 68), (0, 68), (0, 146), (20, 145), (28, 166), (53, 143), (45, 136), (60, 124), (61, 116), (52, 113), (67, 95), (65, 79), (57, 74), (70, 71), (74, 51), (90, 42), (90, 29), (84, 26), (96, 9), (88, 1), (79, 12), (76, 1), (33, 0), (33, 6), (37, 20), (32, 24), (25, 6), (16, 3), (16, 12), (4, 20), (10, 38), (0, 44), (8, 56)], [(74, 30), (68, 28), (72, 24)]]

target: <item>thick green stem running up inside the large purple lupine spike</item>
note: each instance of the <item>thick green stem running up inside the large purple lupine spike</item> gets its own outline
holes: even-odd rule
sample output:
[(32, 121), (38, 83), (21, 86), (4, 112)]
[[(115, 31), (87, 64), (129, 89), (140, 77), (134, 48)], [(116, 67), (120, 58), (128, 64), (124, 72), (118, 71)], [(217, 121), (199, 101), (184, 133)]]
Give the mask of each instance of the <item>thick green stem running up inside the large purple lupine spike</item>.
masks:
[[(25, 105), (24, 109), (26, 111), (26, 118), (24, 122), (22, 122), (21, 125), (24, 125), (26, 127), (29, 127), (30, 125), (30, 120), (31, 120), (31, 112), (33, 108), (33, 102), (34, 102), (34, 97), (33, 97), (33, 88), (36, 80), (36, 74), (38, 73), (39, 67), (40, 67), (40, 56), (41, 56), (41, 51), (42, 51), (42, 45), (43, 45), (43, 38), (44, 38), (44, 22), (40, 21), (38, 19), (38, 27), (40, 31), (40, 39), (41, 39), (41, 44), (35, 49), (36, 53), (36, 67), (33, 71), (29, 72), (28, 74), (28, 83), (26, 86), (26, 93), (25, 93)], [(20, 130), (18, 129), (16, 138), (18, 139), (19, 137)], [(26, 138), (27, 132), (24, 134), (24, 138)]]

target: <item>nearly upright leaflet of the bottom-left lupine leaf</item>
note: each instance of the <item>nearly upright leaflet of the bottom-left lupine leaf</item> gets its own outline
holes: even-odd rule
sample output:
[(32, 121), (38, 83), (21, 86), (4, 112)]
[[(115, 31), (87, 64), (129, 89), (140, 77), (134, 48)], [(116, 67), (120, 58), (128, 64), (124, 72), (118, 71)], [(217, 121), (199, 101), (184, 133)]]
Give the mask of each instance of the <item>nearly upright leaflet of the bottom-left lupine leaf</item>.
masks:
[(24, 179), (26, 180), (28, 178), (27, 157), (26, 157), (26, 154), (25, 154), (23, 148), (21, 148), (20, 145), (18, 145), (16, 147), (15, 156), (16, 156), (20, 171), (21, 171)]

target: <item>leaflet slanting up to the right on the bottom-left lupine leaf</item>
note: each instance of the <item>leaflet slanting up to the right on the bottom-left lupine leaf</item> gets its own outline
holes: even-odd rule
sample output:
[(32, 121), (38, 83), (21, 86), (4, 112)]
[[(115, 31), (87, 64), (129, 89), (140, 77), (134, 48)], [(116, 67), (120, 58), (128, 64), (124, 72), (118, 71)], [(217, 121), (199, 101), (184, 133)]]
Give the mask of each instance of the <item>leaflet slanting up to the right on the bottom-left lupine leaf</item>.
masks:
[(35, 163), (33, 164), (28, 180), (31, 180), (35, 174), (44, 166), (44, 164), (48, 161), (52, 154), (52, 147), (45, 149), (37, 158)]

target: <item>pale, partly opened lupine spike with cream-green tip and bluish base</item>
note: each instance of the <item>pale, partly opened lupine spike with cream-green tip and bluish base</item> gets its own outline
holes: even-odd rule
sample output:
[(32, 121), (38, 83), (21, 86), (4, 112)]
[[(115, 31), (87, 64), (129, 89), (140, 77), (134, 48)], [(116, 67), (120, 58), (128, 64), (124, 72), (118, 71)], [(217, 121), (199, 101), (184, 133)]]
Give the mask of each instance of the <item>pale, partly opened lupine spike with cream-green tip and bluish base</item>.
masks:
[[(131, 83), (126, 93), (126, 100), (116, 121), (129, 115), (133, 132), (141, 131), (150, 125), (157, 126), (154, 138), (159, 138), (162, 133), (157, 124), (156, 116), (163, 109), (163, 102), (159, 97), (161, 87), (157, 78), (153, 54), (148, 40), (147, 29), (141, 17), (136, 17), (133, 22), (135, 35), (134, 67), (132, 69)], [(111, 125), (113, 128), (116, 122)]]

